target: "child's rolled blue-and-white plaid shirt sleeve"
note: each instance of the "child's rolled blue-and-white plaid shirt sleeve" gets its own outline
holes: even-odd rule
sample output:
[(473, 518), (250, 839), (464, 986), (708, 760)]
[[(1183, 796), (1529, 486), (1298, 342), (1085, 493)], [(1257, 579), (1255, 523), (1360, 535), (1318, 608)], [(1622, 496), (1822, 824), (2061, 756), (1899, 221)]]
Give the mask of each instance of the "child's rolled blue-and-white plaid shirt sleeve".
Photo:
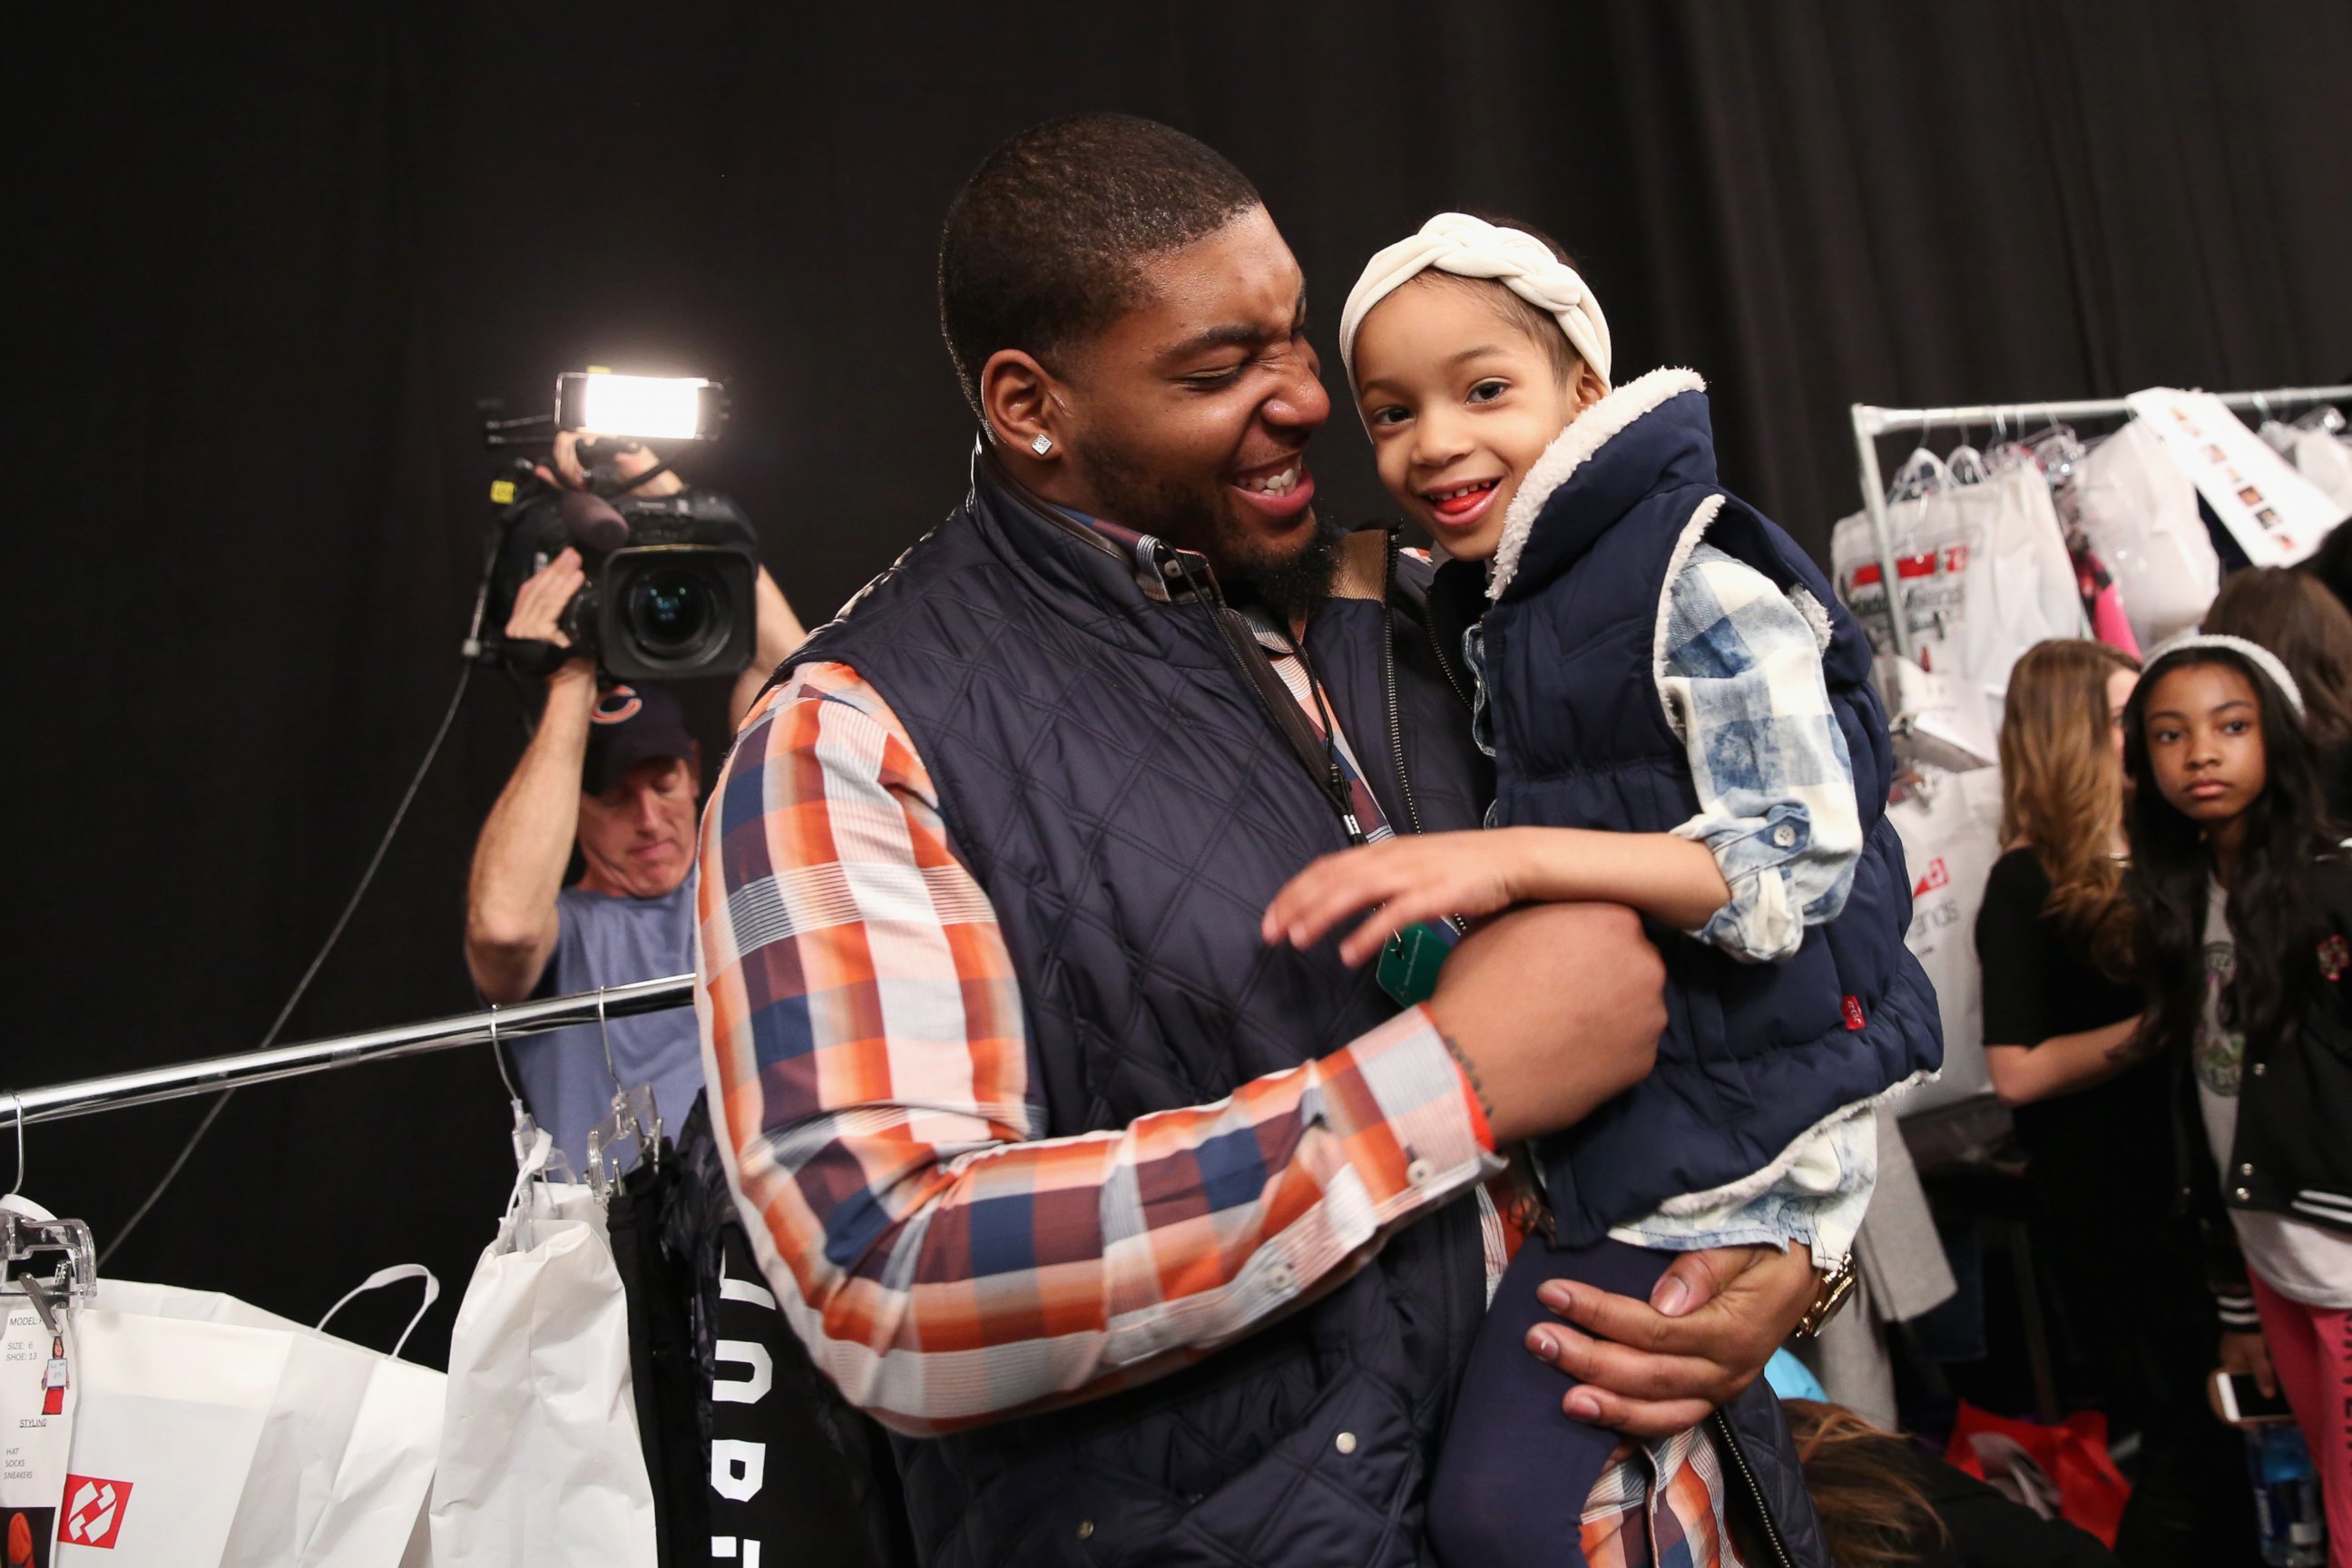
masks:
[(1853, 757), (1820, 668), (1828, 611), (1715, 545), (1668, 590), (1658, 693), (1684, 736), (1705, 844), (1731, 898), (1691, 931), (1736, 959), (1785, 959), (1853, 889)]

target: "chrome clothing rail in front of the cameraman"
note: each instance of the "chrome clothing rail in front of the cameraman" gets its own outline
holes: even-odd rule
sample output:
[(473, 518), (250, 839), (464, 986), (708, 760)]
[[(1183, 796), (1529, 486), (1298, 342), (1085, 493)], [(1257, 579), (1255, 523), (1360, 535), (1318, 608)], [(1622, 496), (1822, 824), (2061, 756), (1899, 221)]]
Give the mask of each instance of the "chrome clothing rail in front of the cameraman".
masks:
[[(520, 1034), (546, 1034), (576, 1023), (600, 1018), (635, 1018), (637, 1013), (661, 1013), (694, 1001), (694, 976), (668, 976), (663, 980), (637, 980), (633, 985), (604, 985), (572, 997), (548, 997), (543, 1001), (517, 1001), (494, 1006), (485, 1013), (459, 1013), (430, 1023), (405, 1023), (367, 1034), (336, 1034), (294, 1046), (247, 1051), (242, 1056), (214, 1056), (200, 1063), (176, 1063), (172, 1067), (141, 1067), (139, 1072), (115, 1072), (101, 1079), (75, 1084), (49, 1084), (47, 1088), (0, 1091), (0, 1119), (14, 1114), (19, 1126), (33, 1121), (61, 1121), (87, 1117), (125, 1105), (155, 1105), (158, 1100), (181, 1100), (186, 1095), (214, 1093), (219, 1088), (245, 1088), (273, 1079), (299, 1079), (308, 1072), (329, 1072), (355, 1063), (388, 1063), (426, 1051), (452, 1046), (477, 1046)], [(7, 1121), (0, 1121), (5, 1128)]]

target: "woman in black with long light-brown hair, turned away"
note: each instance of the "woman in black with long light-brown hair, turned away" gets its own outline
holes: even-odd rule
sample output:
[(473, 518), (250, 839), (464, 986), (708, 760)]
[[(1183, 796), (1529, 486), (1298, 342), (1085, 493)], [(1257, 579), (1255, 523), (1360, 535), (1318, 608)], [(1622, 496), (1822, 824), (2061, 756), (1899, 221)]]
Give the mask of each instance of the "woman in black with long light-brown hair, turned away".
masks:
[(2206, 1408), (2216, 1314), (2173, 1220), (2166, 1077), (2133, 1051), (2124, 703), (2138, 665), (2044, 642), (2009, 675), (2002, 846), (1976, 917), (1985, 1065), (2027, 1154), (2034, 1234), (2117, 1429), (2140, 1432), (2117, 1556), (2253, 1561), (2237, 1434)]

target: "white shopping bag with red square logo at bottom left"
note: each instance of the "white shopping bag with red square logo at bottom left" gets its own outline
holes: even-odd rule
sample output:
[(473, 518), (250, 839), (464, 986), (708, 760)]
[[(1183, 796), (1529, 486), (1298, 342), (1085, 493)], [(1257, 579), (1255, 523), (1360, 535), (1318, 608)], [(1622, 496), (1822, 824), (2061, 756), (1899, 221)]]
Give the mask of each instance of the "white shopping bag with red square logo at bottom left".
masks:
[[(360, 1291), (402, 1279), (426, 1284), (421, 1319), (440, 1284), (419, 1265), (383, 1269)], [(176, 1514), (176, 1495), (188, 1488), (202, 1493), (202, 1516), (228, 1509), (216, 1542), (169, 1528), (153, 1561), (397, 1568), (433, 1481), (440, 1373), (214, 1291), (101, 1281), (78, 1326), (85, 1380), (75, 1474), (132, 1481), (125, 1533), (143, 1526), (151, 1507)], [(226, 1380), (230, 1394), (216, 1396), (212, 1380)], [(245, 1394), (256, 1394), (261, 1410), (249, 1441), (238, 1403)], [(191, 1427), (219, 1429), (223, 1441), (188, 1441)], [(160, 1434), (165, 1448), (155, 1446)], [(146, 1488), (136, 1486), (141, 1476)]]

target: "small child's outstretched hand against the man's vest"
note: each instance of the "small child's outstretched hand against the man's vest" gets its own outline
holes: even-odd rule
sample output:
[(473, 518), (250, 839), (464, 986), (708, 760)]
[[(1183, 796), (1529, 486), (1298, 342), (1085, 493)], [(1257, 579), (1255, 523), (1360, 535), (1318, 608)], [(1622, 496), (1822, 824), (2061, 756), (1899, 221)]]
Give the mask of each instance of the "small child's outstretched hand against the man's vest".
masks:
[(1343, 849), (1291, 877), (1265, 907), (1261, 936), (1312, 947), (1331, 926), (1371, 910), (1338, 945), (1343, 964), (1364, 964), (1392, 931), (1446, 914), (1494, 914), (1529, 893), (1517, 872), (1526, 865), (1508, 827), (1428, 832)]

